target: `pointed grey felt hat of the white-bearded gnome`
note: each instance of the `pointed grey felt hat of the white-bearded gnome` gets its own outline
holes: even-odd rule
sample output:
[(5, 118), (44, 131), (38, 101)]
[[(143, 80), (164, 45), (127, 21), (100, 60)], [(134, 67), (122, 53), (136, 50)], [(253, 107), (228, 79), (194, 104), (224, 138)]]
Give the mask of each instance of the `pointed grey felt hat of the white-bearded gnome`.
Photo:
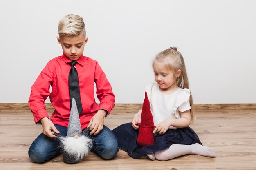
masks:
[(76, 106), (76, 100), (72, 99), (72, 106), (70, 110), (70, 119), (68, 121), (67, 126), (67, 136), (66, 137), (73, 137), (75, 135), (81, 136), (82, 129), (79, 119), (79, 114)]

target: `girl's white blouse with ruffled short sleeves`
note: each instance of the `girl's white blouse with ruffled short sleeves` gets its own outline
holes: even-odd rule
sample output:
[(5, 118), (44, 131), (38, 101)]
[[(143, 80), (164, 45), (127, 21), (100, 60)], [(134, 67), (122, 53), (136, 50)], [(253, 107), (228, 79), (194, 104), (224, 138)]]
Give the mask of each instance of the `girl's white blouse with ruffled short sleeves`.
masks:
[[(164, 95), (159, 90), (159, 85), (154, 83), (146, 86), (150, 108), (153, 114), (154, 124), (157, 126), (160, 122), (173, 118), (180, 118), (180, 112), (191, 109), (189, 104), (190, 90), (179, 88), (170, 95)], [(177, 129), (170, 126), (169, 129)]]

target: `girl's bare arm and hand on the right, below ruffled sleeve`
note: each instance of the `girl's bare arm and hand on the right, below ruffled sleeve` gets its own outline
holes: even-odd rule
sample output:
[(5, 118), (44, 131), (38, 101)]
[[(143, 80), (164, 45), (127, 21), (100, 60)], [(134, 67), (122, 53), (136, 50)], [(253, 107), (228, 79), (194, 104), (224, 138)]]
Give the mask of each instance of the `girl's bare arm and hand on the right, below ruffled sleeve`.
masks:
[(158, 132), (159, 135), (164, 134), (170, 126), (174, 126), (176, 128), (185, 128), (188, 127), (190, 124), (191, 116), (190, 110), (186, 110), (184, 112), (180, 112), (179, 119), (166, 119), (159, 123), (153, 133)]

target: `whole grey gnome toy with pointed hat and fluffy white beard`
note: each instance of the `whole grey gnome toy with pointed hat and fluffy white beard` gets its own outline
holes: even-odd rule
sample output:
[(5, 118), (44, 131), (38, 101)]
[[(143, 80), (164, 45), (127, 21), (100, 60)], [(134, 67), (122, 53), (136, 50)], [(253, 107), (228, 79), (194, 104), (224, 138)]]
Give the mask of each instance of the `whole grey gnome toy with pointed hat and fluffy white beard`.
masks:
[(72, 99), (67, 136), (59, 137), (65, 163), (79, 163), (92, 148), (92, 139), (82, 134), (76, 101)]

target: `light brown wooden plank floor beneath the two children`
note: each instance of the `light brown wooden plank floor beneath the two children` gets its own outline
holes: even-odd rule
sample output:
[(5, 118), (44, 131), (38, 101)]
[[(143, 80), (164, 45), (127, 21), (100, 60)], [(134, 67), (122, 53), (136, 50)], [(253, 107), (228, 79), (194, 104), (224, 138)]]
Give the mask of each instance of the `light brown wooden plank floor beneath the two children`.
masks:
[[(136, 108), (137, 109), (137, 108)], [(136, 109), (113, 110), (105, 119), (111, 130), (130, 122)], [(42, 132), (29, 110), (0, 110), (0, 170), (256, 170), (256, 110), (195, 111), (191, 128), (216, 158), (184, 155), (168, 161), (132, 159), (119, 150), (112, 160), (90, 152), (81, 163), (63, 163), (62, 155), (43, 164), (30, 161), (28, 149)]]

